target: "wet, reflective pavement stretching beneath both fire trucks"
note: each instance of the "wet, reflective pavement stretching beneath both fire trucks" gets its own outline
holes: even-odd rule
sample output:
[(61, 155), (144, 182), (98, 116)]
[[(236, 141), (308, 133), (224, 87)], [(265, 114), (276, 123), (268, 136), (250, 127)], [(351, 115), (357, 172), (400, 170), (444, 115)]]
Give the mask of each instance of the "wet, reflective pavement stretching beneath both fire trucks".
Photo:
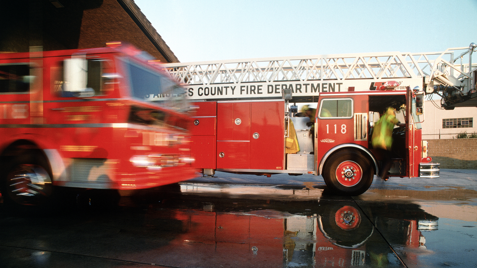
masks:
[(477, 170), (375, 177), (355, 197), (321, 176), (216, 176), (117, 206), (102, 191), (45, 215), (0, 205), (0, 267), (477, 268)]

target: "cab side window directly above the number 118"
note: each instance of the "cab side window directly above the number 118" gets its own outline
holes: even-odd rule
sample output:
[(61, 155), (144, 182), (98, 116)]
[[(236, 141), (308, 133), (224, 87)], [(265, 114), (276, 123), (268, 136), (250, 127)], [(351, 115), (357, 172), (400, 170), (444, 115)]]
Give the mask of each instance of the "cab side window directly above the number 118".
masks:
[(353, 118), (353, 99), (322, 99), (318, 117), (321, 119)]

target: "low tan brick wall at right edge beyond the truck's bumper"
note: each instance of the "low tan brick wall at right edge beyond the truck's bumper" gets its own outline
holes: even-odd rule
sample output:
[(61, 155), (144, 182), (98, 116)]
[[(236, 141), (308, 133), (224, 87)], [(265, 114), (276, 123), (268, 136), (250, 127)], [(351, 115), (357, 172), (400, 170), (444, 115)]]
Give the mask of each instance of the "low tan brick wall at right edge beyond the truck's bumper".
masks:
[(477, 169), (477, 139), (427, 140), (428, 155), (441, 168)]

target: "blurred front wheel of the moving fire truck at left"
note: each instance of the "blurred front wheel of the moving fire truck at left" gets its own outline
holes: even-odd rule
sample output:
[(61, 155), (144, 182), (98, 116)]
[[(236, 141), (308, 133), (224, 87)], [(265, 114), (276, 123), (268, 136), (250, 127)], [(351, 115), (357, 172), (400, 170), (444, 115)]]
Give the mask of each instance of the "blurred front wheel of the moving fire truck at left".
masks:
[(5, 205), (49, 206), (52, 201), (52, 175), (46, 159), (36, 153), (15, 157), (2, 173), (1, 190)]

